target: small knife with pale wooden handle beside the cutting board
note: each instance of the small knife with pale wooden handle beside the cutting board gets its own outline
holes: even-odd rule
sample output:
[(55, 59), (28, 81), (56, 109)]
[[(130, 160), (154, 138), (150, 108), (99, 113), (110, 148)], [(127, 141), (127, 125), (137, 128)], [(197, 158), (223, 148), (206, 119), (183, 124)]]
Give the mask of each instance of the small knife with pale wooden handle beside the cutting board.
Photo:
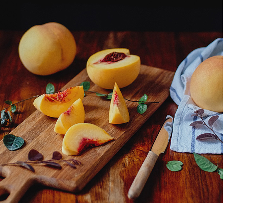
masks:
[(166, 116), (165, 122), (163, 123), (153, 146), (148, 152), (146, 159), (144, 160), (143, 164), (140, 167), (140, 170), (138, 171), (138, 174), (136, 175), (133, 183), (131, 184), (131, 187), (128, 191), (128, 198), (130, 200), (135, 200), (140, 195), (156, 163), (156, 160), (158, 159), (158, 156), (161, 153), (165, 152), (165, 149), (171, 137), (171, 132), (169, 134), (165, 128), (168, 126), (168, 128), (172, 130), (172, 124), (173, 117), (171, 117), (170, 115)]

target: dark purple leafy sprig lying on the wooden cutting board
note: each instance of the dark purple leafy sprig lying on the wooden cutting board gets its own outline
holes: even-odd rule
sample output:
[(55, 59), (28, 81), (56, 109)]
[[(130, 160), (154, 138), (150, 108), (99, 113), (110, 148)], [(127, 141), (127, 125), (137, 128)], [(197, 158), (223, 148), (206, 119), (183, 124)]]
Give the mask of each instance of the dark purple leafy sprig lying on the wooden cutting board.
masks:
[(14, 163), (1, 164), (1, 165), (21, 166), (21, 167), (24, 167), (25, 169), (35, 172), (35, 169), (32, 166), (32, 164), (43, 164), (43, 166), (53, 167), (56, 169), (62, 169), (62, 165), (60, 165), (57, 162), (65, 162), (65, 164), (68, 164), (73, 169), (76, 169), (76, 165), (81, 165), (81, 162), (78, 160), (75, 160), (75, 159), (62, 160), (62, 154), (60, 154), (60, 152), (58, 152), (58, 151), (53, 152), (52, 159), (43, 160), (43, 155), (35, 149), (31, 149), (28, 152), (28, 159), (26, 161), (19, 160)]

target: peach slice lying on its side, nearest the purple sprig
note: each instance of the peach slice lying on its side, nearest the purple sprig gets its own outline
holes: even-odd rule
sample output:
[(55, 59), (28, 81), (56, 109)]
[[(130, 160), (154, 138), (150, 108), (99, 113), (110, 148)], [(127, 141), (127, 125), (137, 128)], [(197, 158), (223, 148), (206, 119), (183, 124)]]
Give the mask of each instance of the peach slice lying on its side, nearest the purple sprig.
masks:
[(66, 155), (79, 155), (88, 147), (100, 146), (113, 139), (95, 124), (77, 123), (66, 131), (62, 141), (62, 152)]

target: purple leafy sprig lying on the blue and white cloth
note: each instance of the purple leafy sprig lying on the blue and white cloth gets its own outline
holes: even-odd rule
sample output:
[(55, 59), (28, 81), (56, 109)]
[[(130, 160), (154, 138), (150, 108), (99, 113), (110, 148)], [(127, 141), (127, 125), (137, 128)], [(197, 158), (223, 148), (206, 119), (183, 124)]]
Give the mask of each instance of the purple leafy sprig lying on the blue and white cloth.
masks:
[(193, 123), (190, 124), (190, 126), (196, 126), (198, 124), (202, 124), (202, 125), (206, 126), (207, 128), (209, 128), (213, 133), (200, 134), (196, 137), (196, 139), (197, 140), (216, 139), (223, 143), (223, 141), (213, 131), (213, 123), (219, 118), (219, 116), (218, 115), (211, 116), (211, 118), (209, 118), (209, 120), (208, 120), (208, 125), (207, 125), (205, 123), (205, 121), (203, 120), (203, 113), (204, 113), (203, 109), (198, 109), (198, 110), (194, 111), (194, 113), (191, 116), (198, 116), (199, 118), (201, 118), (202, 121), (194, 121)]

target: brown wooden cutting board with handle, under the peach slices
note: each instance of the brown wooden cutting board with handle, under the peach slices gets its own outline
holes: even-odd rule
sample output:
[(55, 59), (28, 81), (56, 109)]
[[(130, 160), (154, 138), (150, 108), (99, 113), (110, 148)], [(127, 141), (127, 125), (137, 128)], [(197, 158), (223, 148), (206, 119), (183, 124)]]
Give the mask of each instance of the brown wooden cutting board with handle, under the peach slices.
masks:
[[(121, 147), (140, 129), (151, 115), (170, 97), (169, 88), (173, 80), (174, 72), (155, 67), (141, 65), (140, 74), (128, 87), (121, 88), (123, 96), (129, 100), (138, 101), (144, 94), (148, 95), (148, 101), (159, 103), (147, 103), (148, 109), (142, 115), (137, 113), (137, 102), (126, 101), (130, 113), (130, 121), (125, 124), (108, 123), (110, 100), (97, 96), (95, 93), (87, 93), (83, 98), (85, 108), (85, 123), (92, 123), (103, 128), (115, 140), (106, 144), (87, 149), (80, 156), (66, 156), (62, 159), (76, 159), (82, 165), (76, 169), (60, 163), (62, 169), (47, 167), (43, 164), (32, 164), (35, 172), (14, 165), (0, 166), (0, 176), (5, 177), (0, 181), (0, 196), (8, 193), (9, 196), (2, 202), (18, 202), (24, 193), (34, 183), (40, 183), (49, 187), (78, 192), (93, 178), (100, 169), (118, 152)], [(68, 82), (61, 90), (80, 85), (83, 81), (90, 81), (90, 91), (110, 93), (98, 87), (89, 79), (86, 69)], [(166, 115), (163, 115), (166, 116)], [(9, 151), (0, 141), (0, 164), (26, 161), (28, 152), (35, 149), (43, 155), (43, 160), (52, 158), (54, 151), (62, 153), (63, 135), (54, 132), (57, 118), (50, 118), (40, 111), (35, 110), (26, 120), (17, 126), (10, 134), (22, 137), (25, 144), (21, 149)]]

